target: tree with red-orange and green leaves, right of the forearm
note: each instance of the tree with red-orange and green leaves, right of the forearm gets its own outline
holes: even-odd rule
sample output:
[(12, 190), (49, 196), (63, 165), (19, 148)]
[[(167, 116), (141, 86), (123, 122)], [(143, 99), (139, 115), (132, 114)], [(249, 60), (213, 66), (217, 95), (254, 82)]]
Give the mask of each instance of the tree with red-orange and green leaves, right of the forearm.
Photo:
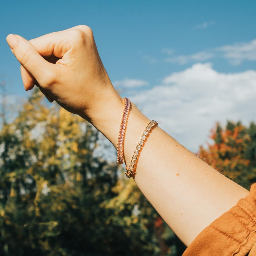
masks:
[(228, 121), (222, 128), (217, 123), (210, 138), (214, 144), (208, 144), (208, 148), (200, 146), (198, 156), (249, 190), (256, 182), (256, 125), (251, 122), (246, 127), (241, 122)]

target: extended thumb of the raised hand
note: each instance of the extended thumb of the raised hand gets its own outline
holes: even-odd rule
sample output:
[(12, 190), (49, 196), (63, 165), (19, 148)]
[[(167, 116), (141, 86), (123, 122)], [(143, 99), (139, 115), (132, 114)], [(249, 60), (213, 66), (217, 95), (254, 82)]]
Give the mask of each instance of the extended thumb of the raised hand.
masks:
[(28, 40), (19, 35), (9, 34), (6, 41), (20, 64), (38, 82), (44, 84), (42, 79), (46, 81), (47, 77), (54, 72), (54, 64), (45, 60)]

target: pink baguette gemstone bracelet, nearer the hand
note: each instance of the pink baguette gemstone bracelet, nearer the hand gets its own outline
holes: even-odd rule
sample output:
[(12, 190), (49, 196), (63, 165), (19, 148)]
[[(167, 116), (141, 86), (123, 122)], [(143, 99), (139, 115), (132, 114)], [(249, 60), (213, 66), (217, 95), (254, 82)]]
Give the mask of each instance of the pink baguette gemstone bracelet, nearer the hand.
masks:
[(119, 136), (118, 136), (118, 144), (117, 144), (117, 163), (123, 164), (123, 148), (124, 148), (124, 135), (127, 123), (127, 117), (130, 110), (130, 100), (129, 98), (124, 97), (124, 111), (122, 115)]

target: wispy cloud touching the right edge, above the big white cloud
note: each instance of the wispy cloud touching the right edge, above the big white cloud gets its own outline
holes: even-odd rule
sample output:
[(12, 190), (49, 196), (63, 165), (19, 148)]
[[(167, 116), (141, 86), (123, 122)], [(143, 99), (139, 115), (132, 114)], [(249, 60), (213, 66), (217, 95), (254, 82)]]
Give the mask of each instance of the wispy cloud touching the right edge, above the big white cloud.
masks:
[(243, 60), (256, 60), (256, 39), (247, 43), (218, 47), (216, 51), (223, 52), (223, 57), (232, 65), (239, 65)]

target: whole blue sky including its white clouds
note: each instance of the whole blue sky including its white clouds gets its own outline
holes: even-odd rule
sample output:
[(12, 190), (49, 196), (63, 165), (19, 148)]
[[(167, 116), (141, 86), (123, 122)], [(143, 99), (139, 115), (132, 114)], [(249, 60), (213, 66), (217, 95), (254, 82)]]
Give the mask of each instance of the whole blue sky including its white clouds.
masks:
[(196, 151), (216, 121), (255, 121), (255, 13), (255, 1), (1, 1), (0, 74), (27, 97), (6, 36), (88, 25), (120, 95)]

